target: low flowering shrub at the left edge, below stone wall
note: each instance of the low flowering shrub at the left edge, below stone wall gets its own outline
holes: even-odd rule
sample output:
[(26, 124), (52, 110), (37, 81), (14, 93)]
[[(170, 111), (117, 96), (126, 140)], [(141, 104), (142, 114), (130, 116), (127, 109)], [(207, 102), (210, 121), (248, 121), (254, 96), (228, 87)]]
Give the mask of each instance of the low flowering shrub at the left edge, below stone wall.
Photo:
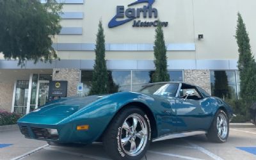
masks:
[(7, 111), (0, 110), (0, 125), (12, 125), (17, 124), (21, 115), (16, 113), (9, 113)]

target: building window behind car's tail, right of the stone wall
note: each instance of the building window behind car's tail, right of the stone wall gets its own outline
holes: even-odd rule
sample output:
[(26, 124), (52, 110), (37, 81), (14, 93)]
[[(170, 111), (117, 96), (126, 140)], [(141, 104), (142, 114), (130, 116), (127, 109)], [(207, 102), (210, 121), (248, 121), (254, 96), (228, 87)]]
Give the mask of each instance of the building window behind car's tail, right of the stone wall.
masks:
[(211, 71), (212, 95), (221, 99), (238, 99), (239, 84), (236, 71), (214, 70)]

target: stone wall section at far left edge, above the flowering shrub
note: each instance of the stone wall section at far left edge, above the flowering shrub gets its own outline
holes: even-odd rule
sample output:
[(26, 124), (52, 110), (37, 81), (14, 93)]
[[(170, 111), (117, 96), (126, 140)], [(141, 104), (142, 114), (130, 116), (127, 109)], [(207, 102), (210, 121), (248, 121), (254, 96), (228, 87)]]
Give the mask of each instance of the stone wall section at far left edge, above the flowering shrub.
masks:
[(0, 82), (0, 109), (12, 110), (13, 82)]

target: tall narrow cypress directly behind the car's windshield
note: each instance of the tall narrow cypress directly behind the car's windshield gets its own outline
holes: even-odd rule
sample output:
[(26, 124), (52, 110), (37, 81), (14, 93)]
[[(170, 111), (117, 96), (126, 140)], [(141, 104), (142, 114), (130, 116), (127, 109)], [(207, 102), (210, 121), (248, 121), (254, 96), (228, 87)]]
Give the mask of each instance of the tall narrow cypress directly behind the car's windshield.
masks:
[(164, 33), (159, 21), (156, 28), (156, 36), (154, 42), (154, 56), (156, 71), (153, 74), (152, 82), (170, 81), (170, 76), (167, 72), (167, 57), (166, 57), (166, 45), (164, 42)]

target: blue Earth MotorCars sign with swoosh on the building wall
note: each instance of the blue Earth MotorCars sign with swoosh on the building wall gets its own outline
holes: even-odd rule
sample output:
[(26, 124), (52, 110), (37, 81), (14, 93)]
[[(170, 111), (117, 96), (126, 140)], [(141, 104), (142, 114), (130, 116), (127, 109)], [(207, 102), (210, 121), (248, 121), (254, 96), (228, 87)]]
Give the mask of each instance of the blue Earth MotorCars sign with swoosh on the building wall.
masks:
[[(155, 19), (158, 17), (158, 11), (156, 8), (152, 7), (152, 4), (155, 2), (155, 0), (137, 0), (134, 3), (131, 3), (128, 5), (128, 8), (125, 8), (125, 6), (116, 6), (116, 15), (113, 17), (113, 19), (110, 20), (108, 27), (109, 28), (115, 28), (117, 26), (120, 26), (122, 24), (125, 24), (127, 22), (130, 22), (133, 20), (132, 27), (156, 27), (159, 23), (159, 20), (154, 21), (141, 21), (137, 20), (141, 17), (143, 18), (152, 18)], [(132, 6), (140, 3), (148, 3), (147, 6), (143, 6), (143, 8), (133, 8)], [(118, 20), (123, 19), (123, 20)], [(161, 22), (161, 25), (164, 27), (168, 26), (168, 22)]]

